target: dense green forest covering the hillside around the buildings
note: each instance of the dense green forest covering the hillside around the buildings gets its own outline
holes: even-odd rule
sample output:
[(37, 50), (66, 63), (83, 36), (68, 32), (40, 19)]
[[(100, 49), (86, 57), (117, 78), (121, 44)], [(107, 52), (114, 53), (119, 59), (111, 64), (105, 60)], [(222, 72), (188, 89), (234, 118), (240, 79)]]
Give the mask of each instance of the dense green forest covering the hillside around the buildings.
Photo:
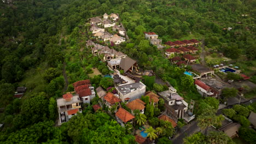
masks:
[[(140, 68), (154, 70), (185, 99), (200, 100), (193, 79), (162, 57), (162, 51), (150, 45), (143, 32), (159, 34), (163, 43), (203, 40), (209, 50), (255, 68), (255, 7), (255, 0), (1, 1), (0, 108), (4, 110), (0, 122), (5, 127), (0, 143), (134, 142), (129, 130), (106, 113), (89, 108), (60, 128), (53, 127), (57, 97), (72, 91), (73, 82), (89, 79), (92, 67), (109, 73), (106, 64), (85, 48), (89, 17), (118, 13), (130, 40), (114, 49), (136, 59)], [(232, 30), (224, 29), (228, 27)], [(256, 80), (255, 69), (250, 75)], [(91, 81), (98, 86), (101, 77)], [(13, 98), (18, 86), (27, 87), (22, 99)]]

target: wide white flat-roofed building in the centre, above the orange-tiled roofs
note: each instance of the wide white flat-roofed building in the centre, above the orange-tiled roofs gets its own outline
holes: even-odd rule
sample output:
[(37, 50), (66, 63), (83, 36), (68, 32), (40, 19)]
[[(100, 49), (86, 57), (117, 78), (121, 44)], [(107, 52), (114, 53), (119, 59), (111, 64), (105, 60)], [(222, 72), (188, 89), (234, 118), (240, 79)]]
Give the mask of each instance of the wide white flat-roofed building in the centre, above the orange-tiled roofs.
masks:
[(141, 98), (141, 95), (144, 95), (146, 92), (146, 86), (142, 82), (131, 83), (115, 88), (118, 91), (119, 98), (123, 102)]

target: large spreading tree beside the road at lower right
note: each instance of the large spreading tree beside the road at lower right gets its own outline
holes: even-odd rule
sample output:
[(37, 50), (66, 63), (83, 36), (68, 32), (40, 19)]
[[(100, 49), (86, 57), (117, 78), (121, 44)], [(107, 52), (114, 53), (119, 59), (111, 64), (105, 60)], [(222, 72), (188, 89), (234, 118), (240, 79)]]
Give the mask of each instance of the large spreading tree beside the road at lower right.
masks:
[(205, 135), (207, 135), (208, 127), (218, 122), (217, 116), (215, 115), (215, 110), (206, 109), (201, 115), (197, 117), (197, 122), (197, 125), (202, 130), (205, 129)]

